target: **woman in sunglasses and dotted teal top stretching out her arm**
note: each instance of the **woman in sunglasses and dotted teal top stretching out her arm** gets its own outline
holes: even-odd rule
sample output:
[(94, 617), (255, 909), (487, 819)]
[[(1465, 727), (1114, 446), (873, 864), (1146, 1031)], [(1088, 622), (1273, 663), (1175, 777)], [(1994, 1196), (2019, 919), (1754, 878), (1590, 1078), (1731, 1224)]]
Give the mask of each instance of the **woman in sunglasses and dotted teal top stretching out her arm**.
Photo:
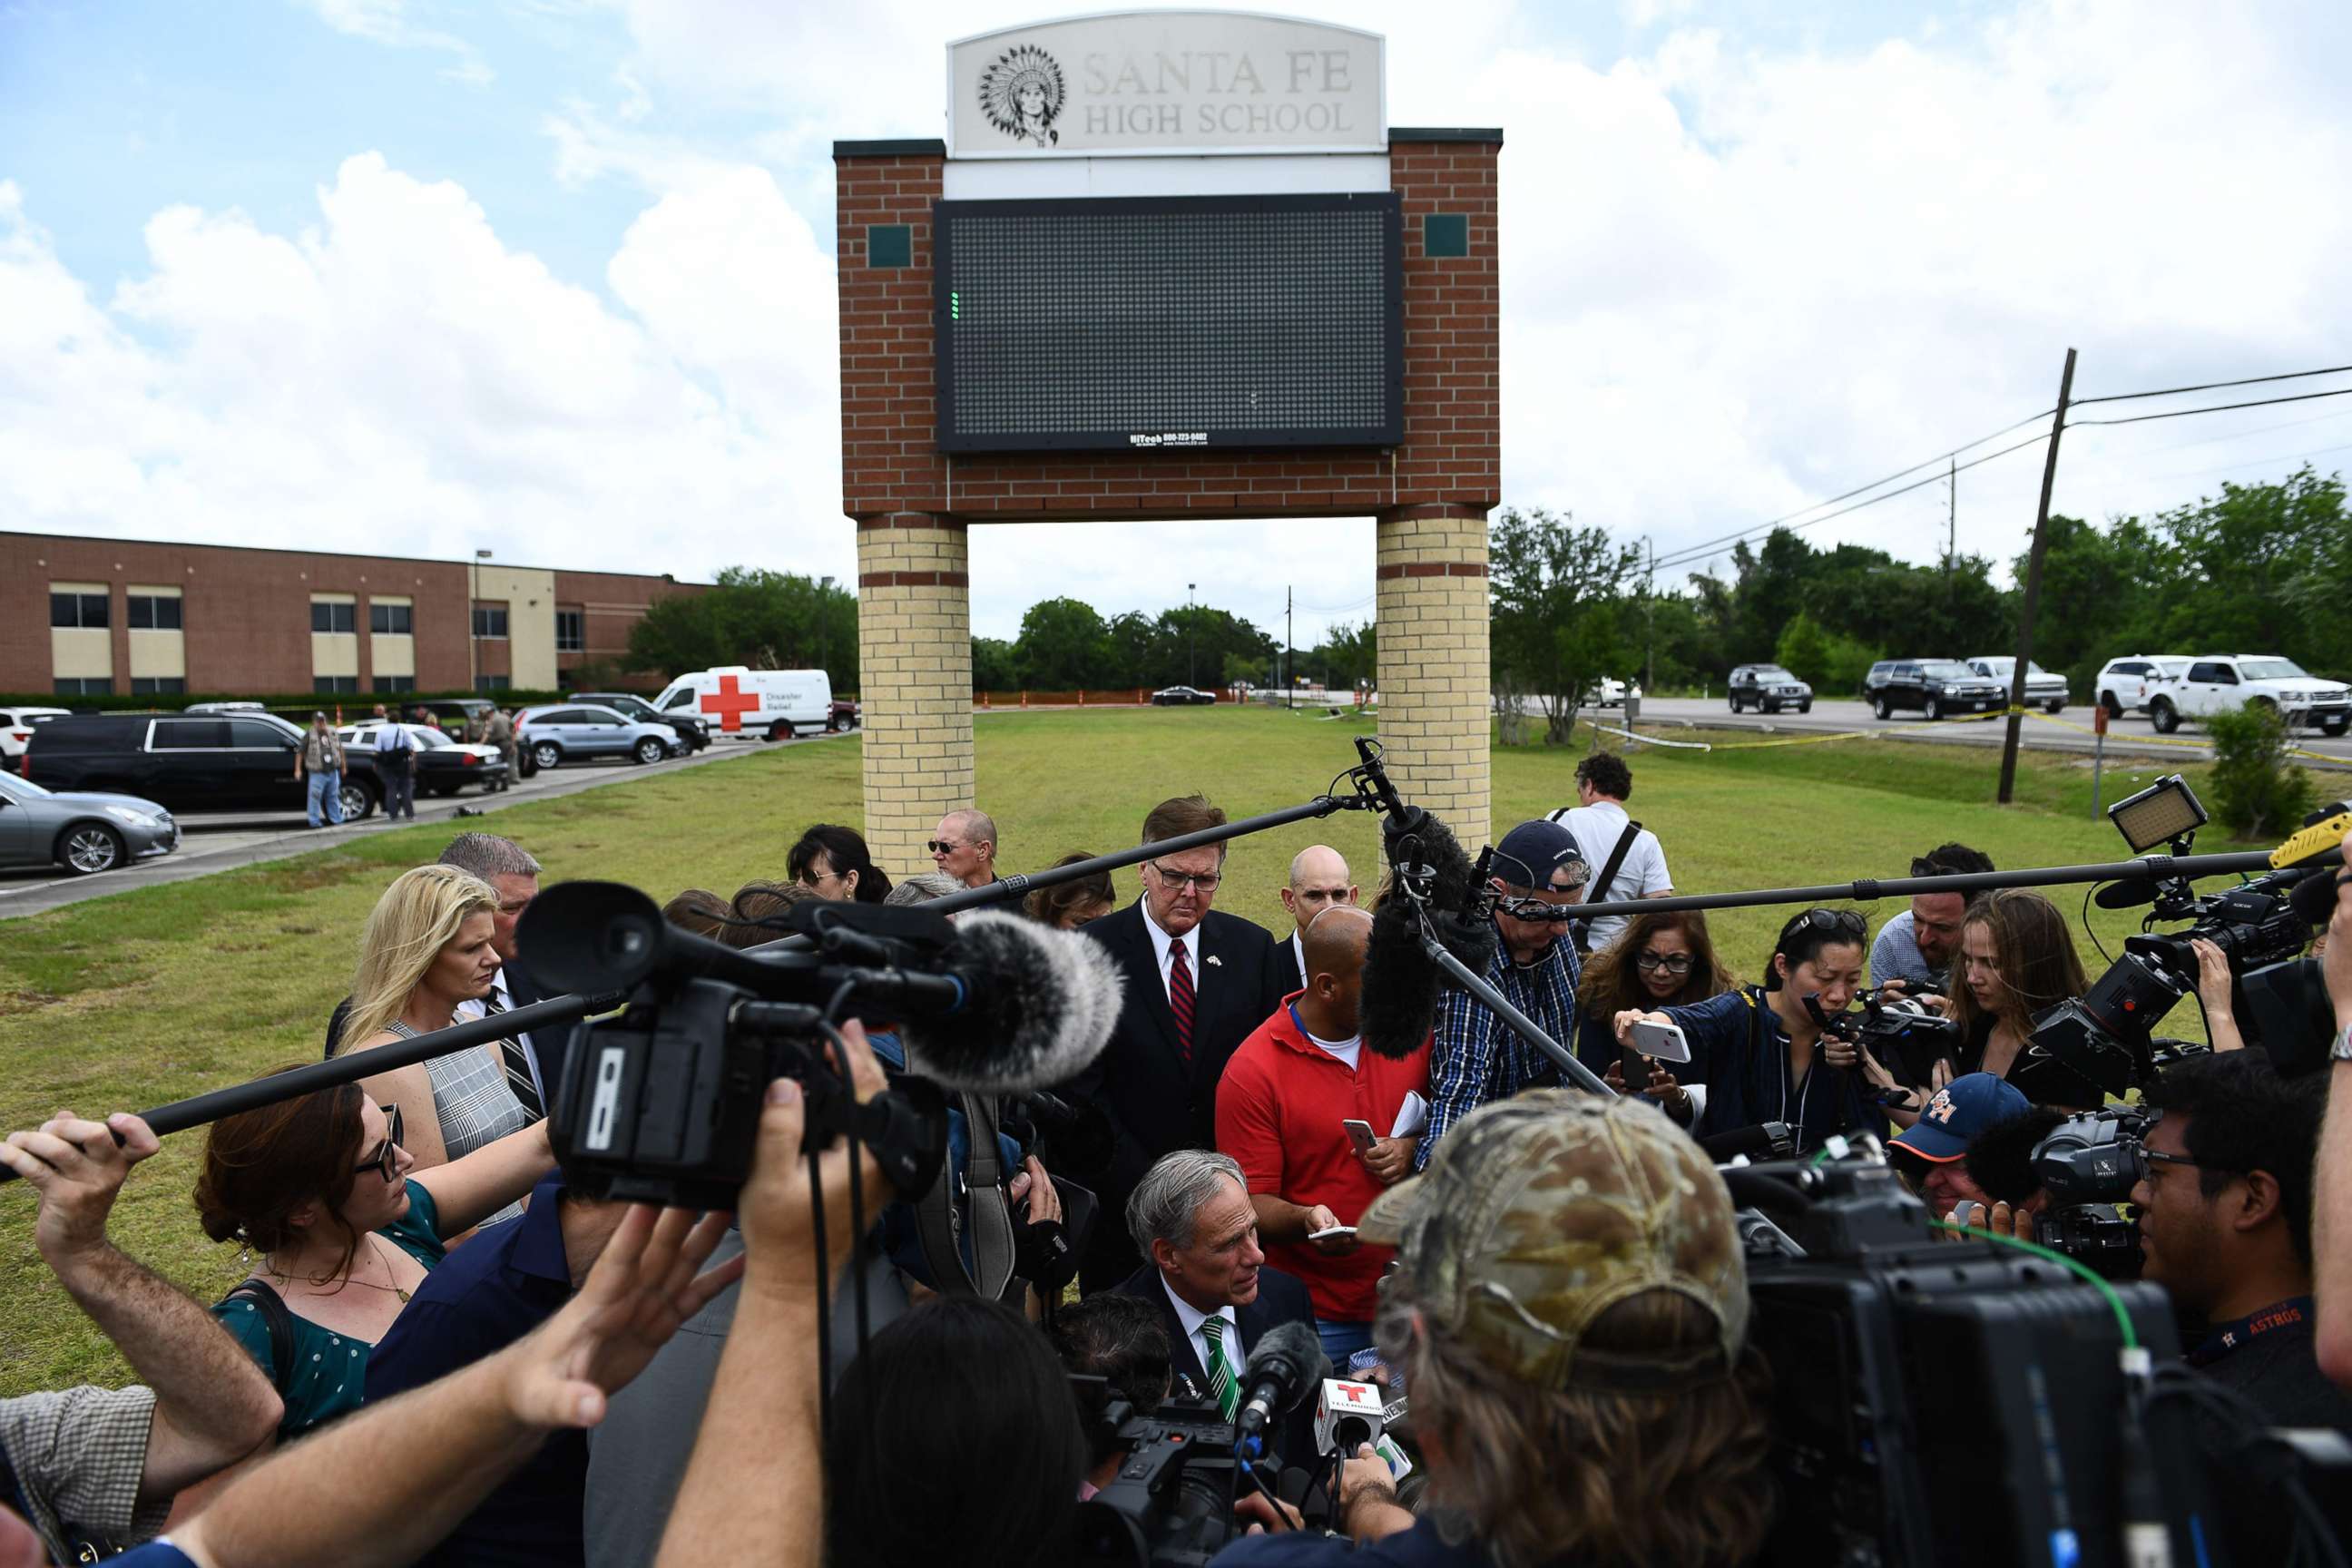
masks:
[(367, 1352), (440, 1265), (447, 1239), (553, 1168), (548, 1124), (536, 1121), (419, 1171), (400, 1107), (358, 1084), (214, 1121), (195, 1211), (207, 1237), (259, 1253), (214, 1314), (285, 1399), (278, 1436), (355, 1410)]

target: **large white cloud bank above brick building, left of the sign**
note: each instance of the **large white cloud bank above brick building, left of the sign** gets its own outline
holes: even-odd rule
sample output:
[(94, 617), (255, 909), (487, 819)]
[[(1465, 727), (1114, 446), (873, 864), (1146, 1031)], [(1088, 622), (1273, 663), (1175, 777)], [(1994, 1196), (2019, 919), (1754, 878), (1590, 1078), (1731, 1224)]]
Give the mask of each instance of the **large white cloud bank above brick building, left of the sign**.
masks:
[(376, 155), (299, 235), (176, 207), (146, 240), (101, 308), (0, 202), (0, 527), (849, 569), (830, 259), (760, 172), (630, 228), (626, 315)]

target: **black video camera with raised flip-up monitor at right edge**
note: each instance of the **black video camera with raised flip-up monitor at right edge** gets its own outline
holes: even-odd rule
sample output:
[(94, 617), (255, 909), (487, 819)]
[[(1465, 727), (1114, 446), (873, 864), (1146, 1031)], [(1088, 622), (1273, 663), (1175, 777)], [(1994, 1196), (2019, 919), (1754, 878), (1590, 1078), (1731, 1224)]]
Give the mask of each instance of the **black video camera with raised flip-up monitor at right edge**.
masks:
[[(2314, 830), (2343, 813), (2343, 804), (2326, 806), (2305, 827)], [(2117, 802), (2107, 816), (2136, 851), (2169, 842), (2173, 856), (2190, 851), (2206, 820), (2204, 806), (2178, 773)], [(2293, 858), (2284, 860), (2286, 856)], [(2157, 1023), (2197, 990), (2197, 952), (2190, 943), (2201, 938), (2230, 961), (2232, 987), (2244, 1004), (2234, 1011), (2246, 1044), (2270, 1051), (2279, 1072), (2314, 1072), (2324, 1060), (2331, 1016), (2319, 966), (2303, 957), (2312, 940), (2312, 912), (2296, 889), (2321, 875), (2310, 860), (2298, 839), (2288, 839), (2272, 856), (2270, 872), (2223, 893), (2197, 896), (2185, 877), (2103, 889), (2103, 910), (2152, 903), (2143, 926), (2159, 919), (2192, 924), (2187, 931), (2124, 938), (2124, 952), (2089, 992), (2034, 1016), (2032, 1044), (2110, 1095), (2147, 1084), (2164, 1065), (2154, 1041)]]

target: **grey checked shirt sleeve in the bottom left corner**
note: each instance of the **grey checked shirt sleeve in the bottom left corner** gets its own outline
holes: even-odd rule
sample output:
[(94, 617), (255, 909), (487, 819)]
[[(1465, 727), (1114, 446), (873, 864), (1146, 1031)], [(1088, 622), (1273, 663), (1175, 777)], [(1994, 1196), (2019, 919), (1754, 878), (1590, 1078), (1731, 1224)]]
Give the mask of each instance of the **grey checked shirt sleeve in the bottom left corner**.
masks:
[(146, 1540), (172, 1512), (169, 1497), (139, 1502), (155, 1389), (78, 1387), (0, 1399), (0, 1453), (16, 1472), (16, 1495), (49, 1561), (75, 1561), (80, 1537), (115, 1547)]

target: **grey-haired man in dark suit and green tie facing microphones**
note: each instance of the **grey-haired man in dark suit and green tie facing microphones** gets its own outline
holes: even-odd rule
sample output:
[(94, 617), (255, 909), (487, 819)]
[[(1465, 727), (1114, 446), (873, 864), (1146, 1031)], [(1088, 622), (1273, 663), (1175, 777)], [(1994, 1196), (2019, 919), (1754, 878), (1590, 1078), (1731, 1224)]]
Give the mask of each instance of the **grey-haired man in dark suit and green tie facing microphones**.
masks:
[[(1178, 1399), (1204, 1399), (1225, 1420), (1242, 1406), (1249, 1352), (1279, 1324), (1315, 1326), (1308, 1288), (1265, 1267), (1258, 1215), (1242, 1166), (1209, 1150), (1162, 1157), (1127, 1204), (1127, 1227), (1148, 1262), (1120, 1281), (1120, 1295), (1160, 1307)], [(1312, 1467), (1315, 1396), (1289, 1415), (1275, 1453)]]

